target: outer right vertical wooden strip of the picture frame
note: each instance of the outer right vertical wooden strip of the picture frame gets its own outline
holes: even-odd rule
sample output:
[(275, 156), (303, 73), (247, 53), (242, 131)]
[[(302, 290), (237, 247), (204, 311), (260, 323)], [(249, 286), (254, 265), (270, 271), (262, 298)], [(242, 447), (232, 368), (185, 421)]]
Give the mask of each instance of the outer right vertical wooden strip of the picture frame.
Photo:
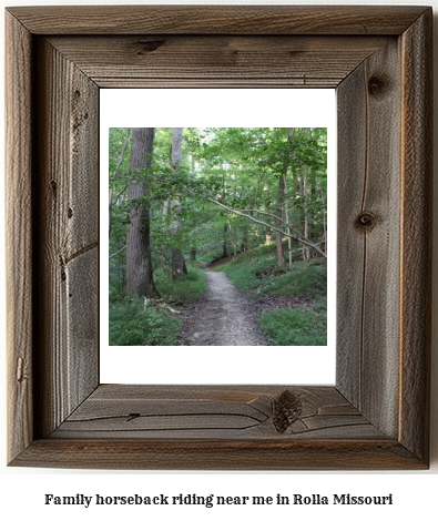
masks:
[(432, 238), (432, 12), (401, 38), (401, 330), (399, 439), (429, 453)]

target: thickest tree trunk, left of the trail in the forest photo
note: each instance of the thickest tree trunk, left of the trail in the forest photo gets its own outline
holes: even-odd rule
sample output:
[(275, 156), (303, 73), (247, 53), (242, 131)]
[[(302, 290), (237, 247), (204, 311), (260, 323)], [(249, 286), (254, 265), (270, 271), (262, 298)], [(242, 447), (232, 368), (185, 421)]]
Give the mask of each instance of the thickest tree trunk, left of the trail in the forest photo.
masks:
[(131, 211), (131, 224), (126, 239), (126, 293), (128, 295), (160, 297), (152, 273), (150, 206), (146, 202), (147, 183), (140, 171), (150, 168), (155, 129), (133, 129), (130, 168), (135, 181), (128, 188), (130, 201), (142, 198)]

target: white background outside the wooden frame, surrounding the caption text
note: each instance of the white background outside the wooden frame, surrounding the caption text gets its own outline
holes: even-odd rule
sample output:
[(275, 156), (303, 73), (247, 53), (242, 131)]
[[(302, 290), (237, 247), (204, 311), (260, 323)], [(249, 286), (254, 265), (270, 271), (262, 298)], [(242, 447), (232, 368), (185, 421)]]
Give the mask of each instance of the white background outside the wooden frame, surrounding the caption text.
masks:
[[(27, 6), (29, 0), (11, 2), (16, 6)], [(38, 4), (110, 4), (122, 3), (104, 0), (102, 2), (64, 2), (57, 0), (54, 2), (39, 1)], [(130, 0), (129, 3), (145, 3)], [(184, 1), (167, 1), (154, 3), (202, 3)], [(264, 4), (287, 4), (293, 2), (210, 2), (210, 3), (264, 3)], [(422, 1), (411, 2), (353, 2), (335, 0), (334, 2), (309, 2), (299, 0), (301, 4), (315, 3), (367, 3), (367, 4), (425, 4)], [(438, 10), (438, 0), (429, 1)], [(3, 13), (1, 13), (3, 16)], [(2, 22), (2, 21), (1, 21)], [(2, 23), (3, 27), (3, 23)], [(3, 43), (3, 42), (2, 42)], [(437, 44), (435, 44), (437, 47)], [(438, 52), (436, 52), (438, 55)], [(3, 50), (0, 52), (0, 59), (3, 59)], [(2, 67), (3, 70), (3, 67)], [(436, 71), (438, 68), (436, 67)], [(436, 73), (437, 75), (437, 73)], [(437, 85), (437, 81), (435, 81)], [(1, 95), (3, 100), (3, 95)], [(4, 120), (4, 119), (3, 119)], [(438, 132), (435, 133), (435, 149), (438, 144)], [(2, 140), (3, 141), (3, 140)], [(3, 142), (1, 143), (3, 146)], [(3, 150), (2, 150), (3, 153)], [(435, 195), (435, 206), (438, 206), (438, 197)], [(3, 219), (3, 212), (0, 213)], [(437, 216), (435, 216), (437, 223)], [(3, 221), (0, 223), (0, 232), (3, 234)], [(438, 229), (438, 226), (435, 226)], [(1, 236), (4, 244), (3, 235)], [(436, 246), (435, 246), (436, 248)], [(3, 251), (1, 248), (1, 265), (4, 265)], [(436, 249), (435, 249), (436, 254)], [(436, 255), (435, 255), (435, 258)], [(435, 263), (438, 265), (438, 263)], [(436, 272), (437, 268), (435, 268)], [(438, 296), (436, 275), (434, 283), (434, 297)], [(1, 270), (0, 288), (4, 288), (4, 270)], [(1, 292), (2, 316), (4, 317), (4, 292)], [(6, 410), (6, 378), (1, 378), (1, 460), (0, 460), (0, 514), (3, 519), (17, 520), (44, 519), (44, 520), (77, 520), (96, 519), (104, 515), (105, 519), (120, 519), (120, 517), (130, 517), (133, 520), (144, 519), (170, 519), (179, 517), (181, 519), (223, 519), (224, 515), (237, 518), (240, 515), (252, 517), (253, 519), (275, 515), (283, 519), (292, 519), (295, 515), (307, 515), (309, 519), (326, 517), (339, 520), (369, 520), (374, 519), (407, 519), (422, 518), (435, 519), (437, 512), (436, 491), (438, 490), (438, 453), (437, 453), (437, 320), (434, 325), (434, 349), (432, 349), (432, 464), (429, 471), (421, 472), (114, 472), (114, 471), (59, 471), (51, 469), (16, 469), (7, 468), (6, 462), (6, 440), (4, 440), (4, 410)], [(4, 366), (4, 330), (2, 335), (2, 369)], [(4, 374), (4, 372), (3, 372)], [(356, 496), (387, 496), (394, 494), (393, 507), (215, 507), (205, 509), (205, 507), (47, 507), (43, 504), (45, 493), (59, 496), (75, 496), (83, 493), (94, 496), (129, 496), (139, 493), (141, 496), (153, 496), (164, 493), (166, 496), (176, 496), (180, 493), (196, 493), (216, 496), (292, 496), (294, 493), (312, 494), (319, 493), (330, 496), (333, 493), (350, 493)]]

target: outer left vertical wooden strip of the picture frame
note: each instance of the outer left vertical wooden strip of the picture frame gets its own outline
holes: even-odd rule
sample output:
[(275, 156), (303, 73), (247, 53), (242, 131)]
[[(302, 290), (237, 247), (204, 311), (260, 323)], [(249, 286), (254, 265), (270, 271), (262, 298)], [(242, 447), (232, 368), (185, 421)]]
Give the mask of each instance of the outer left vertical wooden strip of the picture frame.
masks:
[(6, 45), (8, 458), (14, 458), (33, 437), (32, 106), (31, 35), (9, 13)]

